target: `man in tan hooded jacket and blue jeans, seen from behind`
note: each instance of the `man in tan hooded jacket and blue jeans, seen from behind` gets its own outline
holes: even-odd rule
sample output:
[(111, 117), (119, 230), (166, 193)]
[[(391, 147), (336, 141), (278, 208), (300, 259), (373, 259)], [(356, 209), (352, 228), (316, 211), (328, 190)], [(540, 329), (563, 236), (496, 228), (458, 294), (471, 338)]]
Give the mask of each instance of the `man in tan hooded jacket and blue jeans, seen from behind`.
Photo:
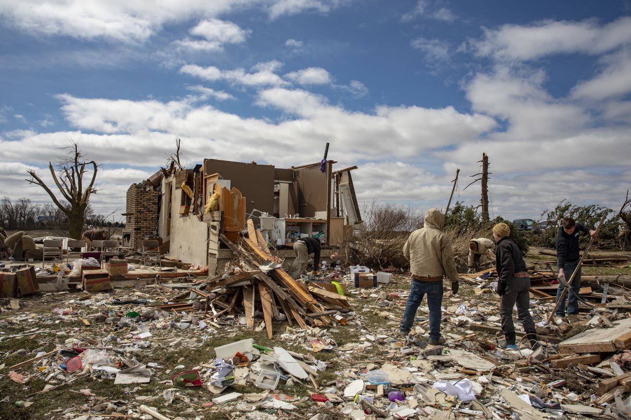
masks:
[(413, 231), (403, 245), (403, 254), (410, 260), (412, 280), (399, 332), (404, 335), (410, 333), (416, 310), (427, 293), (427, 306), (430, 310), (430, 344), (432, 345), (445, 342), (440, 337), (442, 280), (445, 274), (451, 279), (452, 293), (455, 295), (458, 292), (459, 277), (456, 261), (451, 248), (451, 240), (442, 231), (444, 224), (445, 216), (439, 209), (429, 209), (425, 213), (423, 228)]

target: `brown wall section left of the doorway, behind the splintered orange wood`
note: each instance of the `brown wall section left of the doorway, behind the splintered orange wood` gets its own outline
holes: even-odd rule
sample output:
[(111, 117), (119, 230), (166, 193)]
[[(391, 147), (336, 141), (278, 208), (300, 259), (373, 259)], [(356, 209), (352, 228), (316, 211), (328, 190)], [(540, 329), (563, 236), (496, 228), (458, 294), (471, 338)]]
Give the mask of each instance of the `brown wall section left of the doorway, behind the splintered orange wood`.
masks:
[(204, 175), (216, 172), (245, 197), (245, 213), (253, 209), (274, 212), (274, 166), (204, 159)]

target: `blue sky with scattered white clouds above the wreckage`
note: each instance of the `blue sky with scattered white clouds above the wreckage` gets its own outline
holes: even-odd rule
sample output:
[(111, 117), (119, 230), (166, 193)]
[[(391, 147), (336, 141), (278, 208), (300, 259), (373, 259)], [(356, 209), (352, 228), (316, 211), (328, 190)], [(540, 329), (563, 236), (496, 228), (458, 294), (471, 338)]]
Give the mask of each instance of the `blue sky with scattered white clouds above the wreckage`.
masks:
[(98, 213), (183, 160), (329, 158), (360, 201), (538, 218), (615, 209), (631, 187), (631, 3), (3, 0), (0, 196), (74, 140), (102, 164)]

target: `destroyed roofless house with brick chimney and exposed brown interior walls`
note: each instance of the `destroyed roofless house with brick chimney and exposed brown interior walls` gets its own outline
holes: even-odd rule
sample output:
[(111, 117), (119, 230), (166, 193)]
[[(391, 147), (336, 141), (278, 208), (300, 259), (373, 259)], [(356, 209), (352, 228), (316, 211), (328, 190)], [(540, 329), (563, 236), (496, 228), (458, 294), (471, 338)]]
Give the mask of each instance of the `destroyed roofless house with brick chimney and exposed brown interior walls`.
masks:
[(285, 169), (205, 159), (194, 169), (161, 168), (127, 190), (123, 245), (139, 250), (143, 239), (158, 238), (170, 257), (215, 274), (236, 257), (220, 235), (236, 242), (251, 218), (286, 264), (304, 236), (329, 245), (326, 257), (346, 233), (363, 228), (351, 177), (357, 166), (334, 171), (334, 163)]

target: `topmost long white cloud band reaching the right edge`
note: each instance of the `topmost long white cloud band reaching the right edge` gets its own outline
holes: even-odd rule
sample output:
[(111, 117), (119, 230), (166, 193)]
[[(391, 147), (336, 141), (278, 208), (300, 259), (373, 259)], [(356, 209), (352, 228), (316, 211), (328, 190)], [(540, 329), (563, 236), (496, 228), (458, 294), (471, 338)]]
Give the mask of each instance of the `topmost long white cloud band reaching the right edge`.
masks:
[(606, 25), (596, 20), (544, 20), (531, 25), (484, 28), (481, 40), (470, 42), (477, 55), (498, 60), (528, 61), (550, 54), (603, 54), (631, 42), (631, 17)]

